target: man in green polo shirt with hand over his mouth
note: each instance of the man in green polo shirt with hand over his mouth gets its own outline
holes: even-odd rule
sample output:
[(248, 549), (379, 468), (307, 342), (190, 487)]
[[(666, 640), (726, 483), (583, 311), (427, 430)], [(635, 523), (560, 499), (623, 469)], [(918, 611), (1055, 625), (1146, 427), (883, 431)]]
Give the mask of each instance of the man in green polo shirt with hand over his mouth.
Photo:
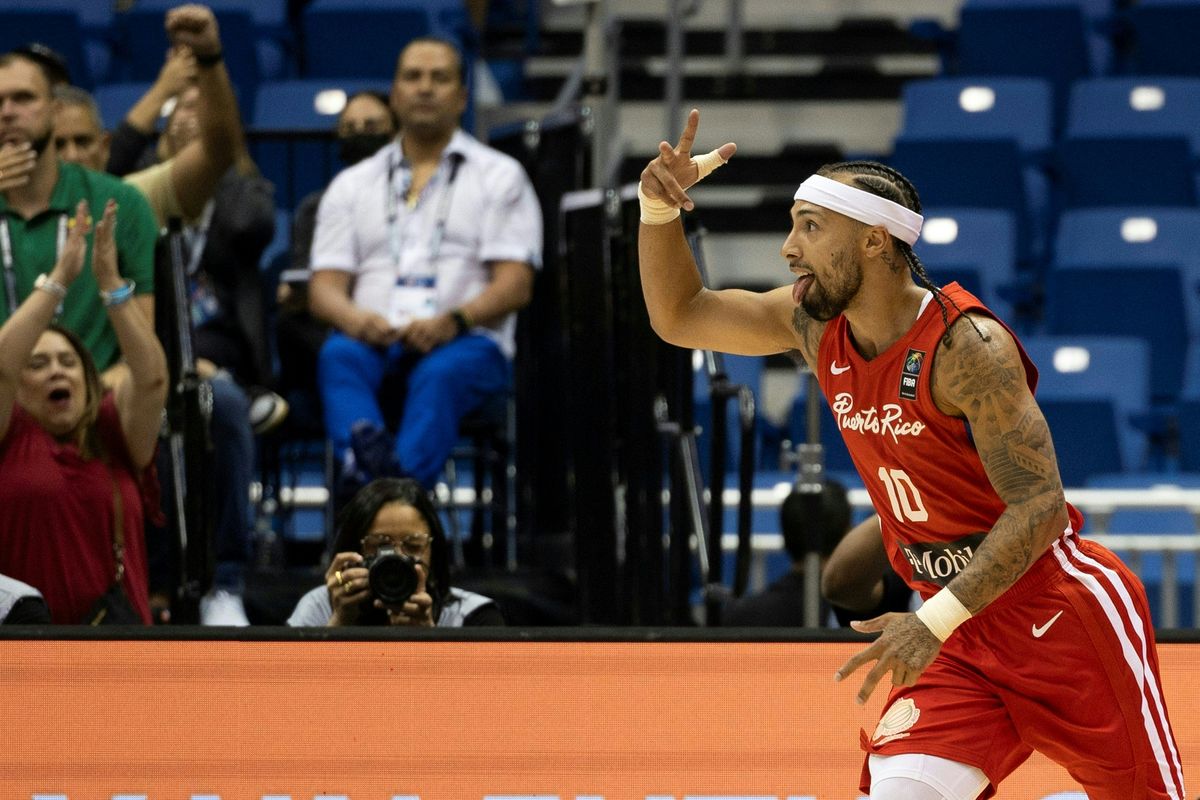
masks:
[[(136, 284), (134, 302), (154, 320), (154, 213), (132, 186), (59, 161), (54, 110), (43, 67), (24, 55), (0, 55), (0, 321), (53, 269), (76, 204), (88, 200), (89, 207), (103, 209), (109, 198), (120, 206), (118, 269)], [(91, 258), (90, 236), (85, 258)], [(100, 369), (114, 368), (120, 348), (90, 273), (72, 284), (60, 321), (79, 335)]]

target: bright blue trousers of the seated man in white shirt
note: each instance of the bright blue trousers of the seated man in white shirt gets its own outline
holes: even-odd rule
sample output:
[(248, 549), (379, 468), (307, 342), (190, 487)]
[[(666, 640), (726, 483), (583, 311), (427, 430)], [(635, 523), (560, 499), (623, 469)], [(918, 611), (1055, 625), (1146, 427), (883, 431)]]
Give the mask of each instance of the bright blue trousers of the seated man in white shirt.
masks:
[(396, 459), (406, 475), (433, 488), (458, 441), (458, 422), (508, 389), (509, 362), (496, 342), (480, 335), (460, 336), (419, 355), (401, 344), (384, 349), (331, 333), (320, 349), (317, 384), (335, 452), (350, 446), (355, 422), (385, 425), (379, 387), (397, 372), (406, 396)]

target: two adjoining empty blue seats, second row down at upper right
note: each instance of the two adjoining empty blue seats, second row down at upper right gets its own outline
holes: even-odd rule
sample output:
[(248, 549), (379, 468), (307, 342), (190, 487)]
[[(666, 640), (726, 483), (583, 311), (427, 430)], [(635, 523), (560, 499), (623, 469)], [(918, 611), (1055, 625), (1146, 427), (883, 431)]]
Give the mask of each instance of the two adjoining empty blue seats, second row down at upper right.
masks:
[(1050, 98), (1034, 78), (912, 82), (892, 162), (926, 204), (1013, 211), (1031, 264), (1061, 209), (1195, 205), (1200, 78), (1076, 82), (1062, 136)]

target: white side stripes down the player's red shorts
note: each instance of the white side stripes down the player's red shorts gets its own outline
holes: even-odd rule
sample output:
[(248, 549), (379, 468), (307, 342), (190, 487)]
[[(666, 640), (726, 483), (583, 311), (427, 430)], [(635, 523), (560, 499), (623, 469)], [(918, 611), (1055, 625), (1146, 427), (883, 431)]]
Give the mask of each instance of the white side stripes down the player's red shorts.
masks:
[[(1062, 565), (1062, 569), (1092, 593), (1099, 602), (1100, 608), (1104, 609), (1104, 615), (1108, 616), (1109, 622), (1112, 625), (1112, 631), (1116, 633), (1117, 640), (1121, 643), (1121, 651), (1124, 655), (1126, 663), (1129, 664), (1129, 672), (1133, 673), (1134, 680), (1142, 688), (1141, 717), (1146, 728), (1146, 738), (1150, 740), (1150, 746), (1154, 751), (1154, 757), (1158, 759), (1158, 769), (1162, 772), (1163, 783), (1166, 786), (1166, 792), (1171, 800), (1184, 800), (1183, 768), (1180, 765), (1180, 754), (1175, 751), (1175, 741), (1171, 736), (1171, 729), (1166, 721), (1166, 711), (1163, 708), (1163, 698), (1158, 690), (1158, 682), (1154, 679), (1153, 670), (1150, 669), (1147, 664), (1146, 631), (1142, 625), (1141, 616), (1134, 608), (1133, 599), (1129, 596), (1128, 589), (1116, 572), (1104, 566), (1096, 559), (1085, 555), (1075, 543), (1074, 536), (1063, 536), (1055, 541), (1052, 547), (1055, 558), (1058, 559), (1058, 564)], [(1084, 572), (1078, 566), (1072, 564), (1067, 553), (1063, 552), (1064, 548), (1069, 549), (1072, 555), (1074, 555), (1079, 561), (1086, 564), (1104, 576), (1111, 585), (1111, 589), (1102, 585), (1096, 576)], [(1128, 633), (1126, 633), (1124, 619), (1114, 602), (1112, 595), (1109, 594), (1110, 591), (1120, 599), (1121, 604), (1124, 607), (1128, 621), (1134, 632), (1138, 634), (1140, 646), (1135, 646), (1134, 643), (1130, 642)], [(1148, 699), (1154, 703), (1153, 714), (1150, 710), (1147, 692), (1150, 696)], [(1156, 722), (1156, 717), (1162, 721), (1162, 733), (1159, 733), (1159, 726)], [(1170, 760), (1166, 758), (1163, 746), (1164, 744), (1171, 752)]]

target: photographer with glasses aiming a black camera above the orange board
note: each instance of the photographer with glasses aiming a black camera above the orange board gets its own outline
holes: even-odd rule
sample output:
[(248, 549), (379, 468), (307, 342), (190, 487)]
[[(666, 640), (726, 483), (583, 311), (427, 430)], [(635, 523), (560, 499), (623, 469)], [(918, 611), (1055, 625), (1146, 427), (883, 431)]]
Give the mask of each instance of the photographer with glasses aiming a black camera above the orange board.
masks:
[(504, 625), (491, 599), (450, 585), (448, 551), (420, 483), (372, 481), (341, 513), (325, 585), (300, 599), (288, 625)]

